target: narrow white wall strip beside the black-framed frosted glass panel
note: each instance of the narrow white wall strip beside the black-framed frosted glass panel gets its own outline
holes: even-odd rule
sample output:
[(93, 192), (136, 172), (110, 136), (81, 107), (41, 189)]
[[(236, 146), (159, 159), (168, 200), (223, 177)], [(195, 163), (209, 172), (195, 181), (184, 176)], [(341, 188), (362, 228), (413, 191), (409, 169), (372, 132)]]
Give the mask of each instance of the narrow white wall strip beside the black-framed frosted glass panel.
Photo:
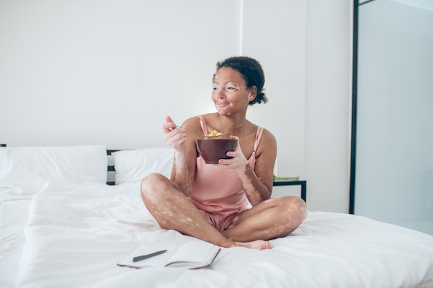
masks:
[(309, 205), (344, 212), (349, 211), (351, 2), (307, 1), (306, 17)]

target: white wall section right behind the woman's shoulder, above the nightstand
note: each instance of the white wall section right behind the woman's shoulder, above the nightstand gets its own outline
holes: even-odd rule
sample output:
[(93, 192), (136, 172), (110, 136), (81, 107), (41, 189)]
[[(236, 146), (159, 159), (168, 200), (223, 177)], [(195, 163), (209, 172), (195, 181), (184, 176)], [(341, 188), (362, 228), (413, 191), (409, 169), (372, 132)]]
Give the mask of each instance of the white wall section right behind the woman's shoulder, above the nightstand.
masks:
[(276, 173), (306, 177), (306, 2), (244, 1), (242, 35), (243, 54), (264, 66), (269, 98), (248, 117), (277, 138)]

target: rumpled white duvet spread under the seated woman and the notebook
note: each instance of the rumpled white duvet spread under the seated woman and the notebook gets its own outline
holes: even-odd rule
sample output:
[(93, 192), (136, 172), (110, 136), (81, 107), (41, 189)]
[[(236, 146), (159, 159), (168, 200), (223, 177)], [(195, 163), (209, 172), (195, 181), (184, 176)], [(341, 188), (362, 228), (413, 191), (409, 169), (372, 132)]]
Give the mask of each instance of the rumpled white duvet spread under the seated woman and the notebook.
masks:
[(159, 230), (139, 184), (51, 183), (30, 204), (17, 287), (433, 287), (433, 236), (342, 213), (309, 212), (273, 249), (222, 249), (198, 270), (116, 262)]

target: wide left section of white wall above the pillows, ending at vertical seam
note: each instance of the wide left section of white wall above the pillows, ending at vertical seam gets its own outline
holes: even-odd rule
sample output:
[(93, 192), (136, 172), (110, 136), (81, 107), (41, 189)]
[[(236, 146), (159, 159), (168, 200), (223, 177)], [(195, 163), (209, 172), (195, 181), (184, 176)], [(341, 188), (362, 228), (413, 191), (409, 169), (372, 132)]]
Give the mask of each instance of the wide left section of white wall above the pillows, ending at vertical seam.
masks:
[(0, 5), (0, 139), (11, 146), (163, 145), (165, 115), (212, 111), (214, 64), (239, 51), (239, 1)]

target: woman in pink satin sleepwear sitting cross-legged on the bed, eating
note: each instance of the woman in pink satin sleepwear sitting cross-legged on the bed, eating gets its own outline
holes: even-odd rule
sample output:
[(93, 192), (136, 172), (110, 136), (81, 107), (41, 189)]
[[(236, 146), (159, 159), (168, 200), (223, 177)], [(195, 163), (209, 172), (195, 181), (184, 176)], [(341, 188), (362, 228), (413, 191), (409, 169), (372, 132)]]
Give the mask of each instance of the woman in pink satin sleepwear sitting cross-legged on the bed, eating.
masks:
[(230, 57), (216, 64), (212, 101), (216, 113), (191, 117), (185, 128), (219, 131), (237, 139), (230, 159), (205, 164), (195, 140), (198, 133), (163, 125), (165, 142), (174, 148), (172, 176), (154, 173), (142, 180), (141, 196), (163, 229), (220, 247), (269, 249), (267, 240), (287, 236), (306, 218), (301, 198), (272, 198), (275, 137), (246, 119), (248, 105), (268, 99), (264, 72), (250, 57)]

